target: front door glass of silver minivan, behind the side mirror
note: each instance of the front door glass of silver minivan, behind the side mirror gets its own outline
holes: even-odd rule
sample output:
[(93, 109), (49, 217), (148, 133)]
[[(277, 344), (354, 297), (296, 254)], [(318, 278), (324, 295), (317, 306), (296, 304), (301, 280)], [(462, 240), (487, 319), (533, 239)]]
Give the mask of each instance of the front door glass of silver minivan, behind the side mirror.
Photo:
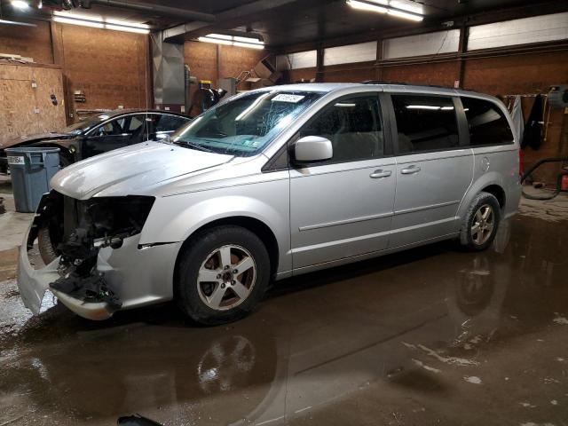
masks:
[(304, 136), (331, 141), (334, 154), (327, 162), (354, 162), (383, 156), (378, 96), (369, 94), (334, 101), (300, 130), (300, 137)]

